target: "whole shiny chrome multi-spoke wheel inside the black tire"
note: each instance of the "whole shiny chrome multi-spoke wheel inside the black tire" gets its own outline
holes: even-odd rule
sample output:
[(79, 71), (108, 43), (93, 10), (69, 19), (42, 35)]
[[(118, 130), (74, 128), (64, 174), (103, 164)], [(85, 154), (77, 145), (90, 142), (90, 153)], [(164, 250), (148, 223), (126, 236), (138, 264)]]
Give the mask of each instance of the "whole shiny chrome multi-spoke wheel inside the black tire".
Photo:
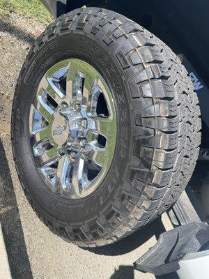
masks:
[(50, 68), (31, 105), (31, 148), (56, 195), (81, 199), (107, 175), (116, 146), (116, 112), (98, 70), (79, 59)]

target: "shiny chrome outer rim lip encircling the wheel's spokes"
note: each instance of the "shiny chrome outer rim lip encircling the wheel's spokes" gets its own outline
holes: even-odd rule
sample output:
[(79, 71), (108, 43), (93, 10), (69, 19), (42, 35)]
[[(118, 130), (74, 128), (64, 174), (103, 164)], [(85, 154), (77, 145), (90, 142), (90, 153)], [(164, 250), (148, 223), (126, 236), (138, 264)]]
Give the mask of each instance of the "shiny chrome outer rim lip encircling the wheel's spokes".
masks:
[[(44, 77), (47, 77), (48, 75), (54, 75), (54, 73), (56, 73), (56, 70), (60, 70), (60, 65), (63, 62), (64, 64), (70, 65), (70, 63), (73, 62), (78, 62), (78, 63), (82, 63), (83, 65), (85, 65), (87, 68), (90, 68), (91, 70), (93, 70), (95, 72), (95, 75), (97, 75), (98, 77), (100, 77), (100, 81), (102, 82), (102, 87), (103, 89), (105, 89), (104, 91), (102, 91), (105, 101), (107, 103), (107, 107), (108, 110), (110, 112), (109, 116), (113, 119), (113, 127), (114, 127), (114, 133), (113, 130), (111, 130), (111, 153), (109, 153), (109, 159), (106, 160), (107, 161), (107, 165), (105, 165), (104, 170), (101, 172), (99, 172), (99, 174), (97, 176), (95, 176), (94, 179), (92, 179), (91, 181), (89, 181), (89, 183), (86, 184), (85, 186), (85, 190), (84, 193), (82, 193), (82, 195), (80, 195), (79, 197), (73, 196), (73, 195), (68, 195), (68, 193), (57, 193), (56, 190), (56, 182), (52, 183), (52, 181), (49, 181), (49, 179), (47, 179), (47, 177), (45, 176), (45, 174), (43, 173), (43, 168), (40, 168), (36, 165), (36, 167), (38, 168), (38, 172), (42, 178), (42, 180), (44, 181), (44, 183), (47, 185), (47, 187), (52, 190), (53, 193), (55, 193), (56, 195), (58, 195), (59, 197), (63, 197), (65, 199), (82, 199), (84, 197), (87, 197), (88, 195), (91, 195), (91, 193), (93, 193), (100, 185), (101, 183), (104, 181), (105, 177), (107, 176), (107, 173), (109, 172), (109, 169), (111, 167), (111, 163), (112, 160), (114, 158), (114, 152), (115, 152), (115, 148), (116, 148), (116, 128), (117, 128), (117, 121), (116, 121), (116, 110), (115, 110), (115, 106), (114, 106), (114, 99), (111, 93), (111, 90), (109, 88), (109, 86), (107, 85), (107, 82), (105, 82), (104, 78), (102, 77), (102, 75), (98, 72), (98, 70), (96, 68), (94, 68), (93, 66), (91, 66), (91, 64), (87, 63), (86, 61), (82, 60), (82, 59), (74, 59), (74, 58), (70, 58), (70, 59), (65, 59), (63, 61), (60, 61), (56, 64), (54, 64), (51, 68), (49, 68), (49, 70), (47, 70), (47, 72), (45, 73)], [(52, 71), (52, 69), (54, 69), (54, 73)], [(84, 69), (81, 69), (84, 70)], [(44, 78), (42, 77), (42, 79)], [(40, 81), (40, 83), (42, 82), (42, 79)], [(38, 85), (38, 91), (40, 90), (40, 83)], [(38, 91), (36, 91), (36, 96), (35, 98), (37, 98), (38, 96)], [(55, 98), (54, 98), (55, 100)], [(30, 120), (29, 120), (29, 130), (30, 130), (30, 136), (34, 135), (34, 132), (31, 129), (31, 119), (33, 119), (33, 104), (31, 105), (31, 111), (30, 111)], [(109, 139), (107, 139), (107, 145), (109, 144)], [(33, 146), (32, 150), (33, 150)], [(33, 150), (33, 156), (35, 157), (35, 162), (36, 162), (36, 154), (34, 154), (34, 150)]]

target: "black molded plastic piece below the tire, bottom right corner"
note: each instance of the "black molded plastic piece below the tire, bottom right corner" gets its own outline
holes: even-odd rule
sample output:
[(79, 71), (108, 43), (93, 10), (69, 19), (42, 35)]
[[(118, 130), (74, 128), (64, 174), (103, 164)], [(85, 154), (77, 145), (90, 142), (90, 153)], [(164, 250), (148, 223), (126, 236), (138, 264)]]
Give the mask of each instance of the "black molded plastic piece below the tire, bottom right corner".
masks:
[(203, 223), (189, 223), (164, 232), (155, 246), (134, 262), (134, 269), (156, 276), (177, 271), (186, 253), (208, 247), (208, 235), (209, 226)]

